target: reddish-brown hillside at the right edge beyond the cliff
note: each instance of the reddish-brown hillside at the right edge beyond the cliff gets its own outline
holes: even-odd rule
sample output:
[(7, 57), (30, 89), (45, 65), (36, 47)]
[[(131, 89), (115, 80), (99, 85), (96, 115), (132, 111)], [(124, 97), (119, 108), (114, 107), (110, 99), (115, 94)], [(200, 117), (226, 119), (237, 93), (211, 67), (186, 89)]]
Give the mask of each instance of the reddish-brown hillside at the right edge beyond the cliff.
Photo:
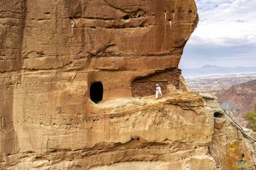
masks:
[(246, 126), (244, 114), (252, 111), (256, 104), (256, 80), (239, 85), (233, 85), (218, 95), (223, 109), (231, 114), (240, 125)]

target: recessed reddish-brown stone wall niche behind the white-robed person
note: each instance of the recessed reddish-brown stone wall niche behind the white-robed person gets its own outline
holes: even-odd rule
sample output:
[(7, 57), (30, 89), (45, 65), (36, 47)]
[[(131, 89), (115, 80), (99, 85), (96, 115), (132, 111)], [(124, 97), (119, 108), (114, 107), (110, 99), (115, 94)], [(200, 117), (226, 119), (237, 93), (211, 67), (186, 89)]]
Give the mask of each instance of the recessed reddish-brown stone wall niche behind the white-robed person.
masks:
[(156, 84), (160, 85), (163, 94), (166, 93), (168, 84), (173, 84), (178, 89), (180, 75), (181, 70), (174, 68), (135, 79), (132, 82), (132, 96), (154, 95)]

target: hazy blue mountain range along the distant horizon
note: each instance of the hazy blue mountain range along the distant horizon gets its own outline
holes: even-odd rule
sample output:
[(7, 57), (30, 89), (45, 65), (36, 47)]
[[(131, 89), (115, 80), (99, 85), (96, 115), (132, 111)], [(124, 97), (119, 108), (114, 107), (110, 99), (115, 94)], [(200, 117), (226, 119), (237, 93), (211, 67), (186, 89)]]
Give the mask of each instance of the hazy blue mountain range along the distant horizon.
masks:
[(220, 74), (249, 74), (256, 73), (256, 67), (218, 67), (205, 65), (196, 69), (182, 69), (184, 77), (202, 77)]

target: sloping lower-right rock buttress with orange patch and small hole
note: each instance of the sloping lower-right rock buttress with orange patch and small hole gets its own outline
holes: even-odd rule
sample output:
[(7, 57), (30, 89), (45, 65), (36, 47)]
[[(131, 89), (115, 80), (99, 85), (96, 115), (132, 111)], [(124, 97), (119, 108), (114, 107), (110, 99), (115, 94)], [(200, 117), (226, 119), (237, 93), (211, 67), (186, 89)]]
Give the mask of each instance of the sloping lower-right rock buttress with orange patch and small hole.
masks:
[[(204, 96), (214, 114), (214, 132), (209, 145), (210, 155), (220, 169), (255, 169), (255, 139), (221, 109), (214, 96)], [(241, 162), (246, 166), (239, 167)]]

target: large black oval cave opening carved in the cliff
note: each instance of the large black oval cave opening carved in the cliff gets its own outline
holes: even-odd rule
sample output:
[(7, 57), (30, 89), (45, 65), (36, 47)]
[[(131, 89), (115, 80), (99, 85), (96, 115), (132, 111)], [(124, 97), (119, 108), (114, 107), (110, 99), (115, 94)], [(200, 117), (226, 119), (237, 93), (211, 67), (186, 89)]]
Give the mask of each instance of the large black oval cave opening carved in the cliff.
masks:
[(90, 98), (94, 103), (99, 103), (103, 98), (103, 84), (101, 82), (92, 83), (90, 87)]

